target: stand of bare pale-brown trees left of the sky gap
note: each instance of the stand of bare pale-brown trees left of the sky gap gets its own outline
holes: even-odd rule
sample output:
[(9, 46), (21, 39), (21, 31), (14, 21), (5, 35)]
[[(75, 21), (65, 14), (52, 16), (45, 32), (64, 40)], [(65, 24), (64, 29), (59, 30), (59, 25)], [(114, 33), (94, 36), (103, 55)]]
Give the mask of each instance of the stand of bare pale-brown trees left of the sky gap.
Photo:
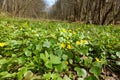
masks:
[(45, 7), (43, 0), (0, 0), (0, 4), (2, 12), (19, 17), (39, 17)]

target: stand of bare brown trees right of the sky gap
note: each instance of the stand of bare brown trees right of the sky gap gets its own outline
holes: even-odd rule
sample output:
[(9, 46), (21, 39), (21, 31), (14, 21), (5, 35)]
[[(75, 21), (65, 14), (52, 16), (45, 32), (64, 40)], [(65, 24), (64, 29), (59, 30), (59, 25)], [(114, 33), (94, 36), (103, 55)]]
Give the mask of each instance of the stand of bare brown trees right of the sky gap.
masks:
[[(58, 5), (59, 3), (61, 5)], [(68, 5), (62, 5), (65, 3)], [(56, 12), (59, 19), (67, 16), (70, 21), (79, 20), (84, 23), (101, 25), (115, 23), (118, 20), (117, 16), (120, 15), (120, 0), (58, 0), (54, 6), (56, 8), (52, 9), (52, 13)]]

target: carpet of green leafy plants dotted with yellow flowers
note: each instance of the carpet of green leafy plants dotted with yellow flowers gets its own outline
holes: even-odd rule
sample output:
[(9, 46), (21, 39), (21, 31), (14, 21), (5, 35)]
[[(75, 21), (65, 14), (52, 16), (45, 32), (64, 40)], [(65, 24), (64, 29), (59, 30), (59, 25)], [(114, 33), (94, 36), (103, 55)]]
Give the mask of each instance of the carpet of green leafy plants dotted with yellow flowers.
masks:
[(120, 67), (119, 35), (112, 25), (2, 18), (0, 78), (105, 79), (103, 66)]

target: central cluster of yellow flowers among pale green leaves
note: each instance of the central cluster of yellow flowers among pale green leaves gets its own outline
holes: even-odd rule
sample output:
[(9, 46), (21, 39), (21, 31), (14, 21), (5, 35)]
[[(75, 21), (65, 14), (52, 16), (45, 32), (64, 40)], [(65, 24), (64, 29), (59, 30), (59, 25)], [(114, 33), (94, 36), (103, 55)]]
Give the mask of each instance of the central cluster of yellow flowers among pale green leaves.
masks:
[[(65, 28), (60, 29), (60, 38), (59, 41), (61, 42), (61, 48), (63, 49), (73, 49), (74, 44), (75, 45), (85, 45), (88, 44), (88, 41), (84, 39), (84, 36), (82, 38), (78, 38), (76, 41), (76, 36), (79, 36), (79, 33), (74, 30), (67, 30)], [(69, 43), (68, 43), (69, 42)]]

